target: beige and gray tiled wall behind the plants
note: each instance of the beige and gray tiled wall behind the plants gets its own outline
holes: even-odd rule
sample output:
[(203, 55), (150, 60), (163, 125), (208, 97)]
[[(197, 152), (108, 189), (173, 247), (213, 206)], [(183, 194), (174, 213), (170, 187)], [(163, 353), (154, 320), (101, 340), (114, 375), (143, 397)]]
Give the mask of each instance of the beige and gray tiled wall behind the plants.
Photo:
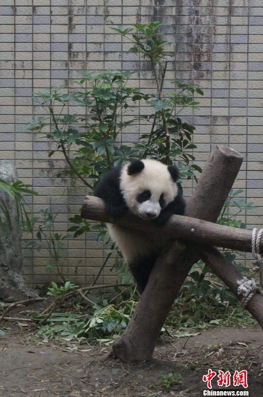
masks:
[[(32, 103), (33, 90), (68, 83), (74, 88), (81, 69), (138, 69), (139, 59), (128, 54), (129, 43), (110, 28), (119, 24), (162, 20), (166, 39), (175, 51), (169, 80), (194, 81), (204, 88), (199, 110), (182, 114), (197, 130), (197, 162), (203, 166), (212, 147), (231, 146), (244, 155), (236, 187), (258, 208), (240, 216), (248, 227), (263, 225), (263, 2), (261, 0), (1, 0), (0, 6), (0, 158), (16, 162), (20, 178), (32, 183), (39, 196), (31, 208), (60, 210), (56, 228), (65, 232), (69, 216), (78, 212), (85, 189), (71, 188), (54, 177), (65, 166), (61, 155), (48, 159), (50, 142), (23, 127), (41, 114)], [(149, 92), (151, 73), (143, 66), (136, 82)], [(69, 109), (70, 110), (70, 109)], [(143, 110), (142, 110), (143, 111)], [(123, 141), (145, 131), (143, 123), (129, 129)], [(189, 196), (192, 184), (185, 183)], [(30, 236), (27, 236), (30, 238)], [(87, 283), (105, 255), (102, 243), (82, 236), (68, 242), (64, 272)], [(25, 249), (24, 269), (29, 284), (48, 281), (48, 252)], [(249, 264), (248, 256), (247, 263)], [(80, 262), (81, 261), (81, 262)], [(112, 261), (110, 261), (112, 265)], [(115, 276), (107, 268), (101, 282)]]

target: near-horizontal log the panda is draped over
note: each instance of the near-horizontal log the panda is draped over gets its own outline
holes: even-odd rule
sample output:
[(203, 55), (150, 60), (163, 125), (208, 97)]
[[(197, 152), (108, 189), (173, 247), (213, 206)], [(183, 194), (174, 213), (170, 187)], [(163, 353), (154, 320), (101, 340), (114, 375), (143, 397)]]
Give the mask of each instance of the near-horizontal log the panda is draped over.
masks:
[[(162, 227), (156, 227), (153, 222), (145, 222), (132, 214), (128, 214), (121, 219), (116, 219), (105, 213), (104, 202), (98, 197), (85, 197), (81, 210), (81, 218), (116, 223), (148, 233), (158, 229), (160, 233), (165, 233), (167, 236), (174, 237), (175, 239), (186, 239), (197, 243), (251, 252), (252, 230), (223, 226), (182, 215), (173, 215)], [(260, 243), (260, 252), (263, 254), (263, 238)]]

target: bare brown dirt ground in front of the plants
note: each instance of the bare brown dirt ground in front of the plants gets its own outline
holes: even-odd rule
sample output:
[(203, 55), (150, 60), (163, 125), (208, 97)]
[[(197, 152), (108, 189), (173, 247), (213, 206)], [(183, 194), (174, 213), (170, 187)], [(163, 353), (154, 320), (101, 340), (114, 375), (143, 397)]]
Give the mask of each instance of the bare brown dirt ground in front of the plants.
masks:
[[(0, 396), (202, 396), (208, 368), (231, 374), (248, 370), (250, 397), (263, 396), (259, 327), (217, 328), (180, 339), (162, 336), (151, 362), (121, 363), (108, 357), (110, 352), (103, 345), (44, 343), (32, 333), (10, 329), (0, 337)], [(160, 375), (169, 373), (181, 374), (182, 383), (166, 390)], [(216, 380), (212, 386), (218, 389)]]

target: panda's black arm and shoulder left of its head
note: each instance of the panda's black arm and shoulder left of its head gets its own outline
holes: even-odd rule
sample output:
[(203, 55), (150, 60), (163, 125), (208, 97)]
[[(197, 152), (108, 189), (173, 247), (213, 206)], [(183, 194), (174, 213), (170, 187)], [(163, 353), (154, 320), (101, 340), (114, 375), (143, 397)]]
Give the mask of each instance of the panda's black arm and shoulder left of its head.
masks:
[(94, 189), (94, 196), (105, 202), (105, 211), (114, 218), (121, 218), (128, 208), (120, 191), (121, 167), (115, 167), (105, 174)]

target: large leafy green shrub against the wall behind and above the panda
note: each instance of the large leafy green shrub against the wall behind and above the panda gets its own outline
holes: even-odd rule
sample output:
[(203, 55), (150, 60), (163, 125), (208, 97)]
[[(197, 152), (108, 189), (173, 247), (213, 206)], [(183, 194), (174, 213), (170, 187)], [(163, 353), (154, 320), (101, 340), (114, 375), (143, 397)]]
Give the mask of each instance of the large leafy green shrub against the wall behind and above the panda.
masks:
[[(138, 157), (150, 157), (166, 164), (177, 161), (180, 182), (182, 178), (196, 178), (195, 172), (202, 171), (193, 163), (192, 149), (196, 146), (192, 143), (192, 135), (195, 127), (178, 116), (183, 109), (198, 106), (194, 95), (202, 95), (202, 89), (175, 81), (176, 89), (164, 97), (165, 59), (171, 54), (165, 49), (167, 42), (160, 38), (157, 31), (162, 25), (161, 22), (151, 22), (135, 24), (133, 28), (115, 29), (124, 36), (130, 36), (133, 32), (131, 37), (135, 47), (130, 51), (141, 51), (145, 59), (150, 60), (157, 95), (149, 95), (132, 87), (131, 78), (137, 72), (119, 70), (83, 72), (81, 80), (76, 82), (78, 88), (70, 93), (65, 92), (64, 86), (34, 93), (36, 104), (49, 115), (34, 118), (26, 128), (53, 141), (49, 156), (56, 151), (64, 155), (68, 168), (57, 176), (70, 176), (73, 182), (78, 178), (91, 192), (109, 169)], [(156, 74), (156, 63), (160, 66), (159, 75)], [(152, 109), (151, 114), (132, 116), (138, 101), (148, 105)], [(83, 115), (77, 112), (64, 114), (68, 105), (73, 109), (83, 108)], [(125, 128), (140, 119), (147, 124), (149, 132), (144, 133), (139, 142), (133, 142), (132, 146), (119, 143)], [(96, 229), (95, 225), (90, 226), (89, 222), (82, 221), (79, 215), (70, 218), (70, 221), (74, 225), (69, 231), (74, 232), (74, 237)], [(99, 232), (102, 234), (102, 230)]]

